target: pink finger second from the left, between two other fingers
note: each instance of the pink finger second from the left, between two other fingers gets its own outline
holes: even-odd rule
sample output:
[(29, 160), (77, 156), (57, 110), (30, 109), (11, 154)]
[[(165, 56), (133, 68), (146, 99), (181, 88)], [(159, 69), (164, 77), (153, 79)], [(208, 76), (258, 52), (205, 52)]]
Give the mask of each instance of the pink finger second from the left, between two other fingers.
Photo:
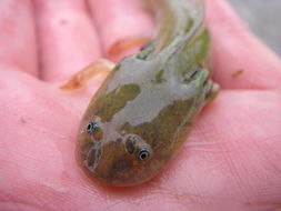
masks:
[(83, 0), (37, 0), (36, 13), (43, 80), (64, 81), (100, 57)]

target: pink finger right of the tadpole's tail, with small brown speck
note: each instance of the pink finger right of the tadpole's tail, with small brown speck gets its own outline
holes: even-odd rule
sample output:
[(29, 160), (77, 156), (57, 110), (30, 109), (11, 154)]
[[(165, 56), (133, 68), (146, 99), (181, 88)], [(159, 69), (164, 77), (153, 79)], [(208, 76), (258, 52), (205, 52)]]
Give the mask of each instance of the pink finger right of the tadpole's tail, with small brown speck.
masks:
[(258, 40), (223, 0), (207, 1), (214, 79), (227, 89), (278, 88), (281, 60)]

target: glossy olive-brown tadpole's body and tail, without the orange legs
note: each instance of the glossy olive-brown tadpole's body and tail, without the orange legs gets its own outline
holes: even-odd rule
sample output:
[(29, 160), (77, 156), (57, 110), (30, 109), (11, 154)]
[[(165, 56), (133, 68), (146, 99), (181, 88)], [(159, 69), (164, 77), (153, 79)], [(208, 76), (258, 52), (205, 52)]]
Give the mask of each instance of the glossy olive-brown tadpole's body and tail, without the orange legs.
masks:
[(178, 24), (177, 18), (184, 22), (121, 61), (82, 119), (77, 160), (94, 181), (126, 187), (151, 179), (182, 145), (197, 114), (217, 93), (207, 70), (210, 38), (200, 27), (202, 20), (178, 16), (179, 7), (187, 12), (191, 2), (160, 2), (175, 21), (170, 26)]

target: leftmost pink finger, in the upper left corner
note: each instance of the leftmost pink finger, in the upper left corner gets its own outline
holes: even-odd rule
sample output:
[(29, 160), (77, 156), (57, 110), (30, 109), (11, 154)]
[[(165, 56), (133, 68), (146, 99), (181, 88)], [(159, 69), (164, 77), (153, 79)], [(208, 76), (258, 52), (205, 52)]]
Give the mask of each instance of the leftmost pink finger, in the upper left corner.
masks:
[(37, 76), (37, 43), (30, 0), (0, 1), (0, 66)]

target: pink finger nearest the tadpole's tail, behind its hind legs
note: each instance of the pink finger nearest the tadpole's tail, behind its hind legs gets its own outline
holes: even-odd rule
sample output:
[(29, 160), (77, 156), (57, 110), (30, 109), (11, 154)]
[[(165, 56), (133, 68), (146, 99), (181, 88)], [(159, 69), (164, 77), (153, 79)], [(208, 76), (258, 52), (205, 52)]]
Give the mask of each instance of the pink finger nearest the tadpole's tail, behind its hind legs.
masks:
[[(89, 4), (106, 53), (118, 41), (144, 38), (152, 29), (151, 18), (140, 1), (89, 0)], [(127, 54), (136, 51), (127, 51)]]

